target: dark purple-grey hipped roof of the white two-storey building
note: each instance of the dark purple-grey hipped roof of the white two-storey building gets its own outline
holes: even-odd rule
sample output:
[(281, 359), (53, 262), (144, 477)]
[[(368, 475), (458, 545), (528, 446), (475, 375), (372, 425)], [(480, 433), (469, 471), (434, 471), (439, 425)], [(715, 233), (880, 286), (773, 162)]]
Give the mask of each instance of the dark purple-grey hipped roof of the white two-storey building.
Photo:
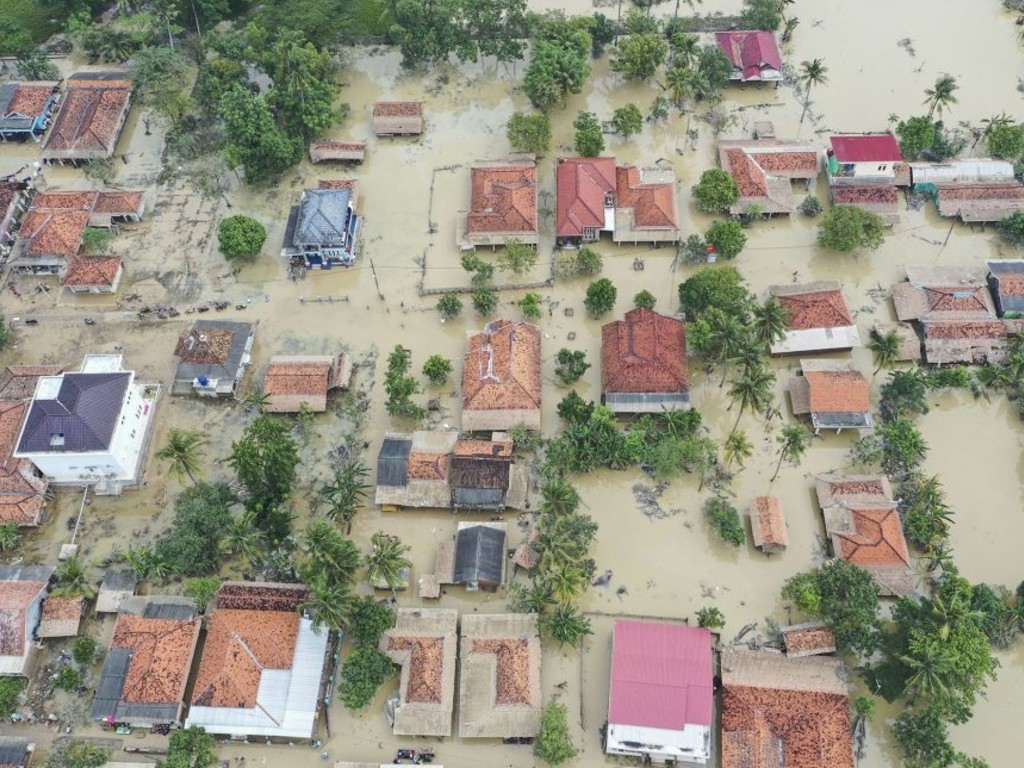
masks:
[(17, 450), (81, 453), (110, 447), (131, 374), (65, 374), (57, 396), (32, 401)]

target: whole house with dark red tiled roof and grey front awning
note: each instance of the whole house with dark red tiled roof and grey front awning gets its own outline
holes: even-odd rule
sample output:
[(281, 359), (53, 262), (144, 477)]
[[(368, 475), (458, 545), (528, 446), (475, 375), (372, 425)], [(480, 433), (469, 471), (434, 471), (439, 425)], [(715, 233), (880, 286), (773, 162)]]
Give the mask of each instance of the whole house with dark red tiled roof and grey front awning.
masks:
[(601, 390), (617, 414), (688, 409), (686, 324), (637, 307), (602, 326)]

